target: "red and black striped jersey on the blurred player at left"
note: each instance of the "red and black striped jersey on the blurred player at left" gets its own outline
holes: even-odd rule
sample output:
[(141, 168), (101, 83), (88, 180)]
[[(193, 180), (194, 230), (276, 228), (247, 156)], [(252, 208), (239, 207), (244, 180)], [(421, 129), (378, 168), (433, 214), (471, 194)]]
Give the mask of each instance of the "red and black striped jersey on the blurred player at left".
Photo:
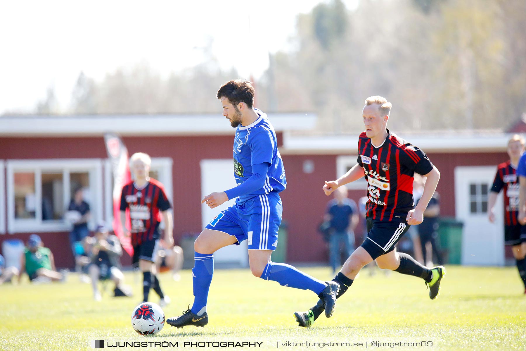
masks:
[(163, 184), (149, 178), (143, 187), (130, 182), (123, 187), (120, 210), (129, 209), (131, 245), (159, 238), (160, 211), (170, 209)]

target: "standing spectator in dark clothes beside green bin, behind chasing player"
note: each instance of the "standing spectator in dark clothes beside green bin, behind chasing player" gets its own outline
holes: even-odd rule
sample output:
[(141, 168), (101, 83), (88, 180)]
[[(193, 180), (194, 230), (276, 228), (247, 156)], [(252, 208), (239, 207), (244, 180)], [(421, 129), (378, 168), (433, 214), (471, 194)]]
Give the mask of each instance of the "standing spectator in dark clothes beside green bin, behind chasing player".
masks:
[[(433, 266), (433, 254), (442, 265), (442, 253), (437, 242), (438, 240), (438, 219), (440, 216), (440, 195), (434, 192), (429, 205), (424, 211), (423, 222), (418, 225), (418, 235), (420, 236), (420, 247), (422, 250), (423, 262), (428, 266)], [(418, 202), (417, 202), (418, 203)], [(426, 244), (431, 244), (431, 252), (426, 250)]]

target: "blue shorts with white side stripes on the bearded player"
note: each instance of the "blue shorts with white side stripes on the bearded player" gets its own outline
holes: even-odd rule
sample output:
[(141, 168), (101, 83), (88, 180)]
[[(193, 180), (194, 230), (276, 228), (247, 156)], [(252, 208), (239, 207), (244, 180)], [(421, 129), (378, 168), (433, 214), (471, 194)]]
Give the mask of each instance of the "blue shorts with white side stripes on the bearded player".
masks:
[(235, 236), (239, 245), (248, 240), (248, 249), (275, 250), (283, 207), (277, 192), (254, 196), (241, 205), (228, 207), (206, 226)]

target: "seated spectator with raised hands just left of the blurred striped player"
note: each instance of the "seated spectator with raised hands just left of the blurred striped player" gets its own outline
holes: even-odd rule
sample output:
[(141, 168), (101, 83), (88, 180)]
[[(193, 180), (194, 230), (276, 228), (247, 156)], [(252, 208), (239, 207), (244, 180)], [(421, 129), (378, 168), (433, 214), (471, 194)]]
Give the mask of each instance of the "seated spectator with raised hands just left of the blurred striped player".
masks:
[(123, 286), (124, 275), (118, 268), (119, 257), (123, 250), (119, 239), (115, 235), (109, 235), (104, 225), (98, 225), (94, 237), (86, 237), (87, 253), (90, 256), (89, 276), (92, 280), (93, 298), (100, 301), (102, 296), (98, 289), (98, 281), (112, 279), (115, 283), (114, 296), (131, 295), (128, 288)]

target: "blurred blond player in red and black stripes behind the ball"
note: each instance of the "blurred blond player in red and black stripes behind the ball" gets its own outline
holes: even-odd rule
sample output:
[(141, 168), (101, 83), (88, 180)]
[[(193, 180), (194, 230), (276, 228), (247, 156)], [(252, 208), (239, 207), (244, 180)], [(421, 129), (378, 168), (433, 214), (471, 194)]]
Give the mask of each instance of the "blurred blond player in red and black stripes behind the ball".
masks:
[[(163, 307), (170, 299), (161, 290), (154, 262), (160, 248), (161, 215), (165, 224), (163, 238), (169, 248), (174, 246), (173, 218), (163, 184), (148, 176), (150, 165), (151, 158), (147, 154), (131, 155), (130, 171), (134, 175), (134, 181), (123, 187), (120, 197), (120, 223), (125, 235), (131, 235), (131, 245), (134, 248), (132, 263), (138, 263), (143, 272), (143, 302), (148, 301), (151, 287), (159, 295), (159, 305)], [(130, 231), (125, 223), (126, 209), (129, 209), (130, 214)]]

